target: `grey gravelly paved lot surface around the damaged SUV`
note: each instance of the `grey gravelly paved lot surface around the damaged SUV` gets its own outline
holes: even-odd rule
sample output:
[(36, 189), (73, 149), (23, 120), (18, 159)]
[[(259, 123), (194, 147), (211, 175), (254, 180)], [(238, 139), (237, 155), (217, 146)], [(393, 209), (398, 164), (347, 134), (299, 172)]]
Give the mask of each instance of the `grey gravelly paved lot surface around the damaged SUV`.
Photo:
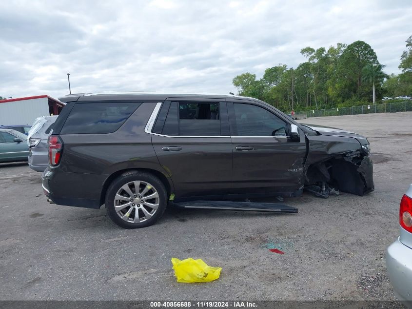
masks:
[[(125, 230), (104, 207), (49, 205), (40, 173), (0, 164), (0, 299), (393, 300), (385, 250), (412, 183), (412, 113), (301, 122), (368, 137), (375, 191), (285, 199), (297, 214), (167, 209), (157, 225)], [(214, 282), (177, 283), (172, 257), (223, 270)]]

